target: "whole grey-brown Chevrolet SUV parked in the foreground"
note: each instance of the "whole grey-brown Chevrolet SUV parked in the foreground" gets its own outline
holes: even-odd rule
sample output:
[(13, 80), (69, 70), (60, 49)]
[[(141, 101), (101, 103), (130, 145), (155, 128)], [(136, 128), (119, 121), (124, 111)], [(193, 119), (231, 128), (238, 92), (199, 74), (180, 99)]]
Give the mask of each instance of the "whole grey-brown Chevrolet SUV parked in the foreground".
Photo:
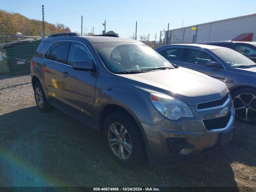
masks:
[(233, 137), (226, 85), (136, 40), (52, 35), (31, 59), (31, 74), (40, 111), (54, 106), (102, 132), (126, 167), (184, 162)]

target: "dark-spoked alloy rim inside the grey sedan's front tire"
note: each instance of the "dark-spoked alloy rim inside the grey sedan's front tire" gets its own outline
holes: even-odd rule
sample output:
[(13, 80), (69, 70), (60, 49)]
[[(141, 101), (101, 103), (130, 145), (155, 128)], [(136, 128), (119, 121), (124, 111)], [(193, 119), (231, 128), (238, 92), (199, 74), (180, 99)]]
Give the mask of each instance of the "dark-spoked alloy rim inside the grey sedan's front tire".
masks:
[(236, 116), (245, 121), (256, 120), (256, 96), (251, 93), (242, 93), (234, 98)]

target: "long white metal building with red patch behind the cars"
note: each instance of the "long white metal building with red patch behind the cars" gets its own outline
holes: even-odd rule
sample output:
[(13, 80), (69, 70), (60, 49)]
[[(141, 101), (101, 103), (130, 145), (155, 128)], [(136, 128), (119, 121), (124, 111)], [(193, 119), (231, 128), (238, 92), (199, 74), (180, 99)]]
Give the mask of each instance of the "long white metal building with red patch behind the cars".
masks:
[(167, 31), (168, 44), (219, 40), (256, 41), (256, 14), (249, 14)]

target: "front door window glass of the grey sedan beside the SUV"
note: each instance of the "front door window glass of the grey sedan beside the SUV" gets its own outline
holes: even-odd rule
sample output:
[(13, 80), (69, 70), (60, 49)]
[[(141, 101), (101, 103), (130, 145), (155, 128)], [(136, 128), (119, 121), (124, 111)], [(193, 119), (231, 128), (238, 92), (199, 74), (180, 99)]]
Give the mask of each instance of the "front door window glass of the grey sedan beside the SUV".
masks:
[(196, 49), (188, 50), (188, 59), (187, 59), (188, 63), (205, 66), (206, 62), (208, 61), (216, 62), (216, 59), (214, 59), (210, 54), (202, 50), (196, 50)]

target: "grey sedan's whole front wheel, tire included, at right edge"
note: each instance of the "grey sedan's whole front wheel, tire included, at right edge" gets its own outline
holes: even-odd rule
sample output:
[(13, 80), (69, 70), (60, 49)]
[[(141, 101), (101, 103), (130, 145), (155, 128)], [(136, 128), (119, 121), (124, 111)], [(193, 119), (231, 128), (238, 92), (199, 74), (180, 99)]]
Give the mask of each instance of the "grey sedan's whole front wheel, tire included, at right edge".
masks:
[(236, 120), (246, 123), (256, 123), (256, 90), (242, 88), (232, 94)]

